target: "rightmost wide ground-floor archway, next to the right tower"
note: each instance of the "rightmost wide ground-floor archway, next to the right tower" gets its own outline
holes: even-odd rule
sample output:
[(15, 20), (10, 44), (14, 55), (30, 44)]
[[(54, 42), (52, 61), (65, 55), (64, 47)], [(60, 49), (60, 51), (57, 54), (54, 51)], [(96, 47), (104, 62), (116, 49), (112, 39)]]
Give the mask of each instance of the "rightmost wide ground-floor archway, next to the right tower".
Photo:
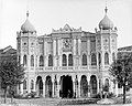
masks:
[(90, 87), (91, 87), (91, 95), (97, 94), (97, 78), (96, 78), (96, 75), (90, 76)]

